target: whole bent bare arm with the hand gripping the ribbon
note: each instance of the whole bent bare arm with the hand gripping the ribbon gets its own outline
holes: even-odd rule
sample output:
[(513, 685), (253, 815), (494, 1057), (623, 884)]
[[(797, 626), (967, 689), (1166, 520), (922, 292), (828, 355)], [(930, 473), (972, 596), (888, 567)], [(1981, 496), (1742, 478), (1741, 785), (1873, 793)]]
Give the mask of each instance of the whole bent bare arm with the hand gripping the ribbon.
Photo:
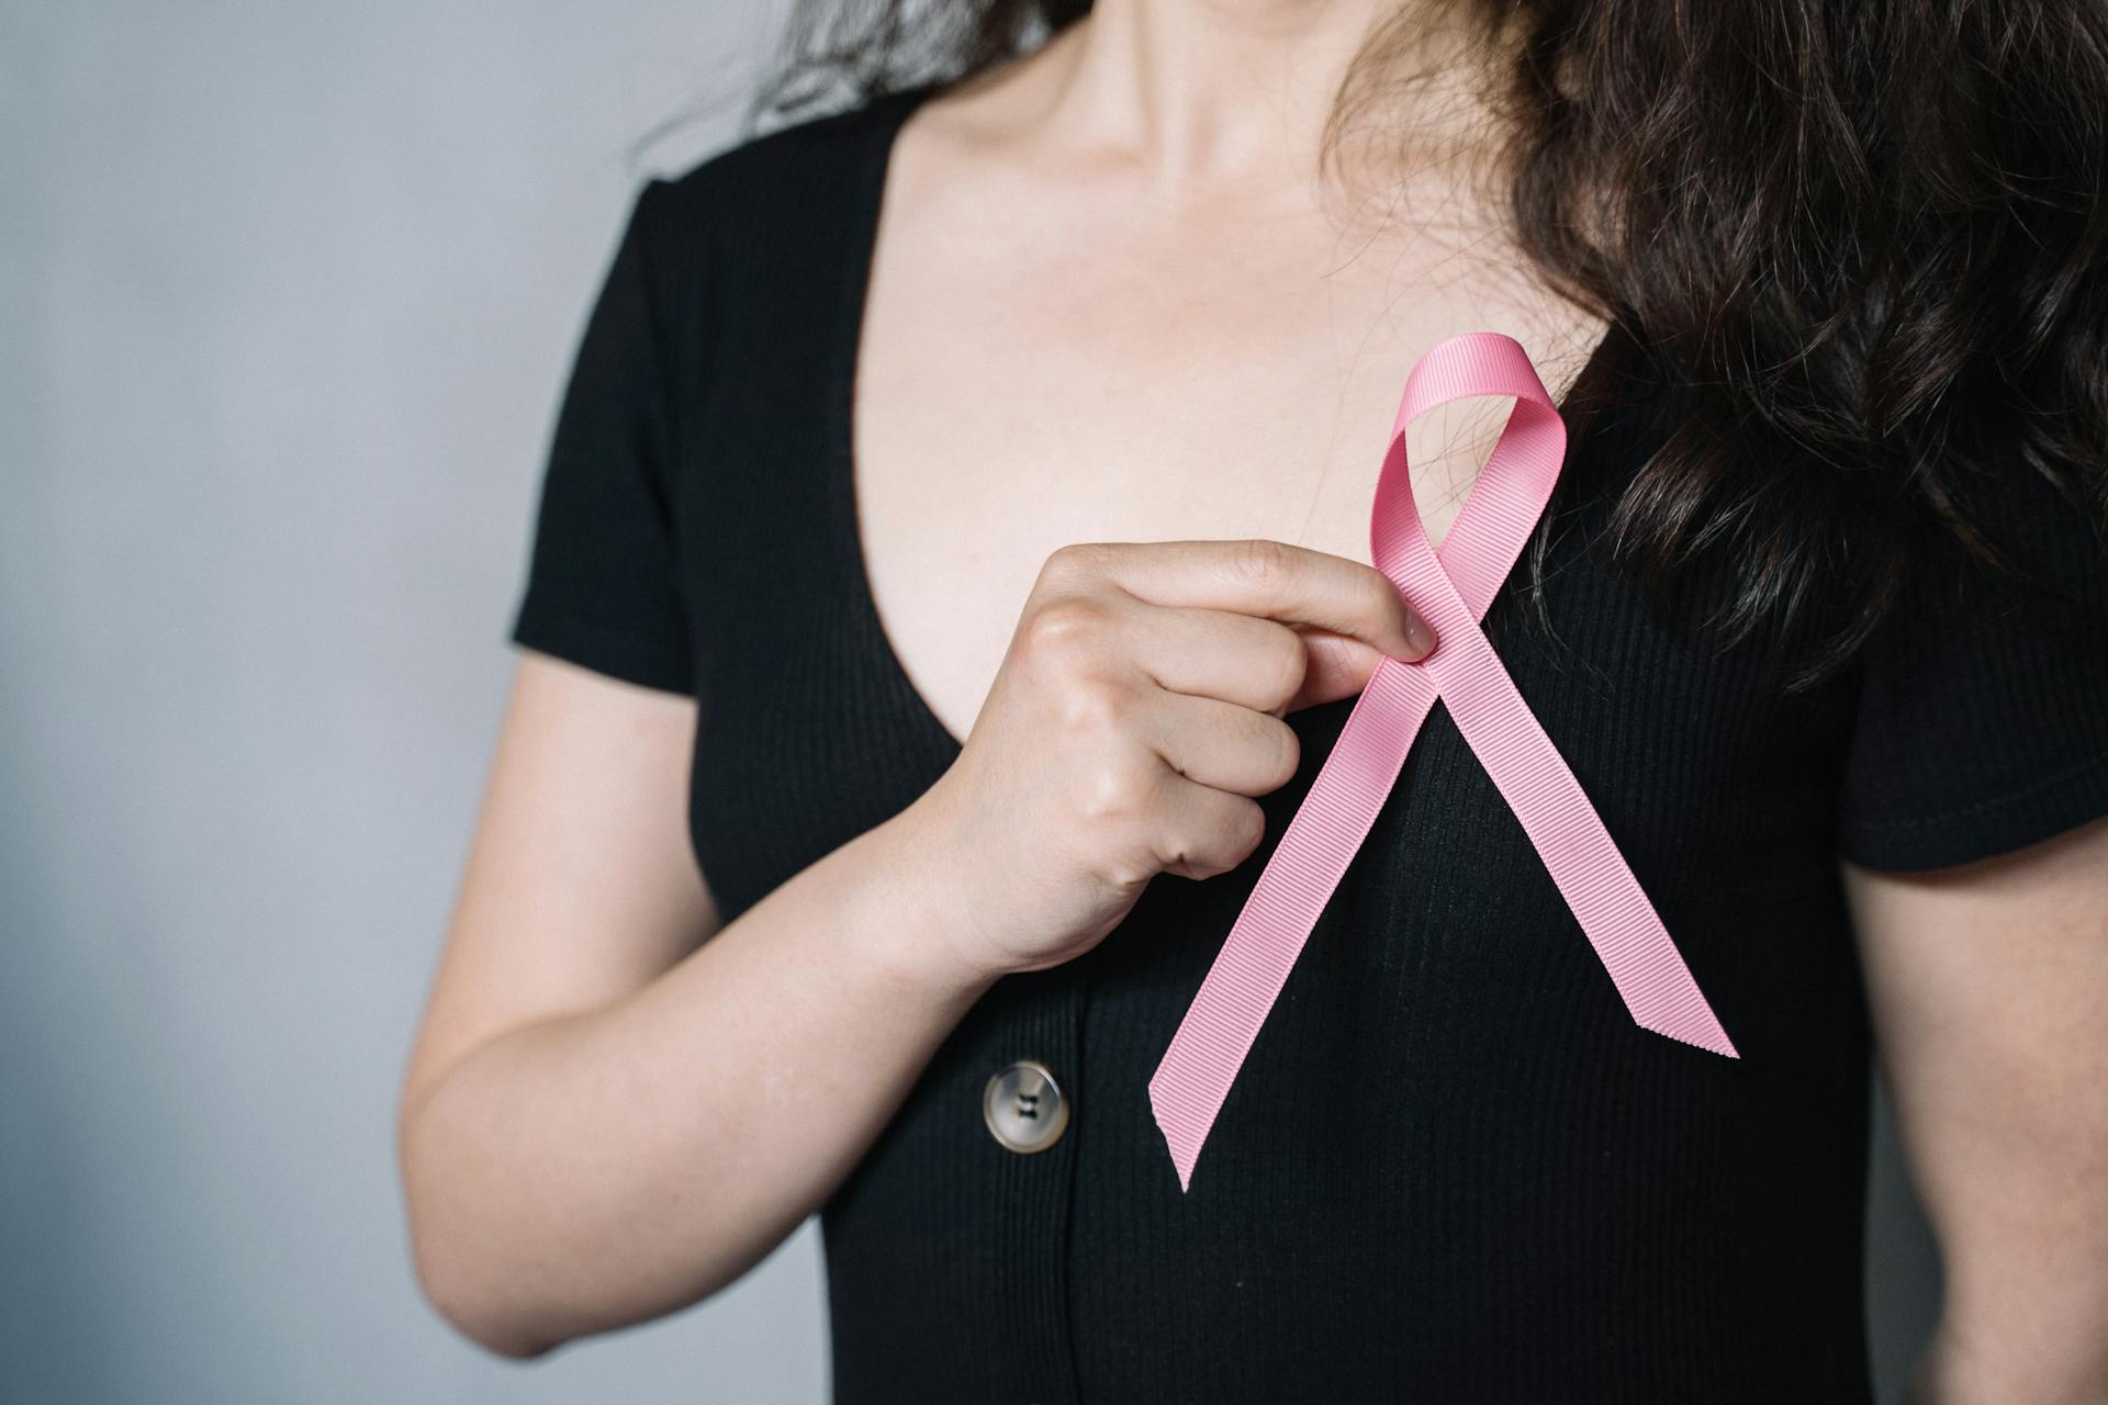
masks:
[(694, 704), (525, 657), (403, 1089), (426, 1295), (531, 1357), (731, 1283), (999, 975), (1090, 950), (1157, 872), (1252, 853), (1250, 796), (1296, 771), (1286, 710), (1429, 645), (1341, 556), (1062, 548), (938, 784), (715, 935)]

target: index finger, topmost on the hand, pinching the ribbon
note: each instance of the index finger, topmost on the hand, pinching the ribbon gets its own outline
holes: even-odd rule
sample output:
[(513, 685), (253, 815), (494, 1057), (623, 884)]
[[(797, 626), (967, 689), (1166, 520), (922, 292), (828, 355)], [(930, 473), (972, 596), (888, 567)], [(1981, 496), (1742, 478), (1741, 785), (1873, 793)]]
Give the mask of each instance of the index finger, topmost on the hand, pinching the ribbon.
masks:
[(1065, 546), (1046, 575), (1102, 579), (1151, 605), (1315, 626), (1406, 661), (1436, 647), (1433, 628), (1374, 567), (1265, 537)]

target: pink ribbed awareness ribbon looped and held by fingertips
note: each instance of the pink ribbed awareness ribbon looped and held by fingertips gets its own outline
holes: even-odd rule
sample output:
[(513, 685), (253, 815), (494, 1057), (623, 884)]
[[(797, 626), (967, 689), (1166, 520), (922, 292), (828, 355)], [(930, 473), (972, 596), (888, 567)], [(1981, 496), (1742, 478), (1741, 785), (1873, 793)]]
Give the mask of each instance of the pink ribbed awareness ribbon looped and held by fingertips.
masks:
[[(1412, 501), (1404, 430), (1421, 413), (1469, 396), (1514, 396), (1516, 407), (1436, 552)], [(1741, 1057), (1478, 624), (1543, 514), (1564, 459), (1566, 421), (1514, 337), (1450, 337), (1406, 377), (1368, 535), (1374, 567), (1427, 617), (1438, 642), (1414, 664), (1385, 657), (1377, 666), (1149, 1079), (1149, 1104), (1180, 1190), (1191, 1188), (1193, 1163), (1229, 1085), (1436, 697), (1516, 811), (1634, 1022)]]

